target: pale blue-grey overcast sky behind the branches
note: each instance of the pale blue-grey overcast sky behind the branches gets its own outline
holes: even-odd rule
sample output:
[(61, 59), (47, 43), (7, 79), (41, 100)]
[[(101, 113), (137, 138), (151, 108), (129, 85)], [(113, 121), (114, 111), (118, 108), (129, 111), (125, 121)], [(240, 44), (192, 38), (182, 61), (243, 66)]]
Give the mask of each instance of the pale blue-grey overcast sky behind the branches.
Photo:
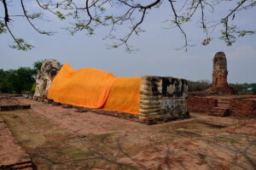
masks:
[[(32, 1), (26, 1), (26, 7), (31, 11), (38, 8)], [(3, 7), (1, 6), (1, 16)], [(17, 37), (24, 37), (35, 48), (30, 51), (18, 51), (9, 48), (13, 42), (9, 35), (0, 35), (0, 68), (4, 70), (17, 69), (20, 66), (32, 66), (40, 59), (57, 59), (62, 64), (69, 63), (74, 69), (93, 67), (102, 71), (113, 72), (118, 77), (141, 77), (143, 75), (181, 77), (192, 81), (212, 80), (212, 58), (218, 51), (226, 54), (228, 61), (229, 82), (256, 82), (256, 39), (255, 35), (242, 37), (232, 47), (218, 39), (219, 32), (211, 34), (209, 46), (202, 46), (201, 29), (195, 22), (184, 26), (189, 40), (195, 47), (187, 52), (177, 50), (183, 45), (183, 37), (174, 29), (163, 29), (163, 21), (168, 17), (169, 7), (150, 10), (146, 16), (143, 32), (139, 37), (131, 37), (132, 46), (139, 48), (135, 54), (127, 54), (125, 48), (107, 49), (111, 42), (103, 41), (107, 29), (96, 30), (96, 35), (87, 37), (83, 33), (70, 36), (59, 27), (66, 26), (65, 21), (58, 21), (51, 15), (52, 22), (40, 22), (39, 27), (46, 26), (58, 31), (55, 36), (39, 35), (28, 25), (26, 20), (15, 20), (14, 32)], [(20, 13), (20, 7), (15, 6), (12, 14)], [(228, 10), (219, 8), (216, 17), (224, 16)], [(235, 21), (248, 30), (256, 30), (255, 8), (236, 14)]]

